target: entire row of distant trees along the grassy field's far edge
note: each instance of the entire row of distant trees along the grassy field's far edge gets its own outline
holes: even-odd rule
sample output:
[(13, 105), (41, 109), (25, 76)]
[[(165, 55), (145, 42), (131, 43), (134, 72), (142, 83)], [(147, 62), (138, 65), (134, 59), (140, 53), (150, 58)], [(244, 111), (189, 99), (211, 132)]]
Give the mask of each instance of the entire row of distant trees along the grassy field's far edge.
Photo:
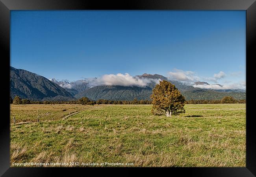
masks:
[[(137, 100), (134, 98), (132, 101), (113, 101), (113, 100), (97, 100), (93, 101), (87, 97), (80, 98), (79, 100), (71, 101), (33, 101), (28, 99), (20, 99), (19, 96), (15, 96), (14, 99), (10, 97), (11, 104), (82, 104), (82, 105), (101, 105), (101, 104), (111, 104), (111, 105), (129, 105), (129, 104), (151, 104), (151, 100)], [(221, 100), (186, 100), (185, 104), (221, 104), (221, 103), (246, 103), (246, 100), (235, 100), (231, 96), (225, 96)]]

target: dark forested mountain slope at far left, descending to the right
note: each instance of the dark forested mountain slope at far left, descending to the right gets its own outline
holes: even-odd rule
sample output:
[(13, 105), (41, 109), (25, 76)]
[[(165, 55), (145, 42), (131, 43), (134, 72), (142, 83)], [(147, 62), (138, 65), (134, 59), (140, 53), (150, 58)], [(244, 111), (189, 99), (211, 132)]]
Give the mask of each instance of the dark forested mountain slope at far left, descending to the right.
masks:
[(59, 85), (35, 73), (16, 69), (10, 66), (10, 94), (14, 98), (30, 100), (54, 100), (61, 96), (63, 100), (74, 99), (73, 96)]

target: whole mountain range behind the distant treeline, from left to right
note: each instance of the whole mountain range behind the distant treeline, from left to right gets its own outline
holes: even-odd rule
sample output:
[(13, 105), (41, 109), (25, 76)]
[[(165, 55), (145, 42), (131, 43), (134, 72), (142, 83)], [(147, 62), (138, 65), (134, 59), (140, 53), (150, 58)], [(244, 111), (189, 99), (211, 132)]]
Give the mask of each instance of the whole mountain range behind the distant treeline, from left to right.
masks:
[[(171, 81), (159, 74), (142, 74), (135, 76), (137, 79), (148, 79), (147, 85), (120, 86), (120, 85), (91, 85), (88, 79), (78, 81), (47, 79), (35, 73), (16, 69), (10, 66), (10, 92), (11, 97), (16, 95), (30, 100), (74, 100), (87, 97), (91, 100), (149, 100), (155, 80), (167, 80), (173, 83), (185, 96), (186, 100), (219, 100), (224, 96), (233, 96), (235, 99), (245, 99), (245, 90), (212, 90), (200, 89), (186, 85), (180, 81)], [(95, 78), (97, 79), (97, 78)], [(206, 82), (195, 82), (195, 85), (209, 85)], [(219, 85), (222, 87), (221, 85)]]

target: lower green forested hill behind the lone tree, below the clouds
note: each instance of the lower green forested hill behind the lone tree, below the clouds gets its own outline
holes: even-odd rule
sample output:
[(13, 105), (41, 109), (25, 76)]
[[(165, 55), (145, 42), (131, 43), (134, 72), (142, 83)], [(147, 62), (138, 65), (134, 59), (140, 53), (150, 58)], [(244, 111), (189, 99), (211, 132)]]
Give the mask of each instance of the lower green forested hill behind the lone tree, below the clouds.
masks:
[[(245, 99), (245, 92), (218, 92), (215, 90), (195, 89), (181, 91), (186, 100), (220, 100), (224, 96), (233, 96), (235, 99)], [(88, 97), (92, 100), (150, 100), (152, 88), (150, 87), (123, 87), (123, 86), (97, 86), (84, 90), (75, 95), (75, 98)]]

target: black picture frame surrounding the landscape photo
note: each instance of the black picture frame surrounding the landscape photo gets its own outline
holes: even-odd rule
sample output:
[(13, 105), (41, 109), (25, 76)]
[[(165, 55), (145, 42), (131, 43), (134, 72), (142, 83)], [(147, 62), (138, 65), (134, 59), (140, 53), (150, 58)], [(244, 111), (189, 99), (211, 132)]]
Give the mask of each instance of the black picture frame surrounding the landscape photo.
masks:
[[(10, 64), (10, 11), (11, 10), (246, 10), (246, 78), (253, 76), (256, 41), (256, 0), (128, 0), (128, 1), (89, 1), (89, 0), (0, 0), (0, 45), (2, 49), (2, 96), (4, 104), (2, 111), (7, 114), (1, 118), (0, 129), (0, 175), (2, 176), (51, 176), (53, 172), (66, 175), (88, 170), (97, 173), (109, 170), (127, 170), (126, 174), (134, 170), (165, 171), (171, 175), (192, 176), (255, 176), (256, 175), (256, 129), (252, 93), (253, 81), (247, 81), (246, 97), (246, 167), (245, 168), (17, 168), (10, 167), (10, 122), (9, 122), (9, 64)], [(249, 96), (248, 96), (249, 95)]]

